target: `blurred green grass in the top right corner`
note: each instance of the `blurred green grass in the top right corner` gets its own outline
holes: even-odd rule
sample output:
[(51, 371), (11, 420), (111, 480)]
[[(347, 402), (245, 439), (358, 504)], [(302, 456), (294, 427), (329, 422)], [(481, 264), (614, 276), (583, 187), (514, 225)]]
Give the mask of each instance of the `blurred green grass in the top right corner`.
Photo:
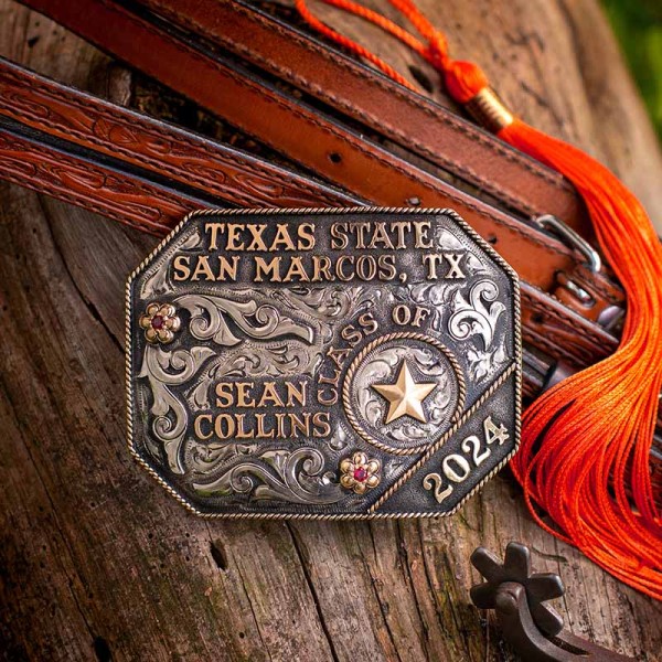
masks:
[(662, 139), (662, 0), (602, 0)]

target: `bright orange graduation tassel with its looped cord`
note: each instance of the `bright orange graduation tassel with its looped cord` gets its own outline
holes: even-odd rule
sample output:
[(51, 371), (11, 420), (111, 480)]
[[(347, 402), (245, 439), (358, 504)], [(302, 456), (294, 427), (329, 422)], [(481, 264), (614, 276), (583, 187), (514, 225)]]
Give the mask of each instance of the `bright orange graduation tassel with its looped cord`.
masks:
[[(350, 0), (324, 0), (378, 24), (430, 62), (460, 104), (489, 89), (477, 65), (448, 56), (446, 39), (412, 0), (388, 0), (423, 40)], [(313, 28), (413, 86), (363, 46), (296, 6)], [(586, 202), (596, 236), (628, 300), (619, 349), (544, 393), (523, 417), (511, 462), (538, 524), (606, 570), (662, 599), (662, 519), (651, 487), (651, 450), (662, 388), (662, 245), (634, 195), (580, 150), (508, 119), (498, 136), (568, 178)], [(631, 498), (626, 487), (629, 487)], [(548, 515), (556, 526), (543, 521)]]

